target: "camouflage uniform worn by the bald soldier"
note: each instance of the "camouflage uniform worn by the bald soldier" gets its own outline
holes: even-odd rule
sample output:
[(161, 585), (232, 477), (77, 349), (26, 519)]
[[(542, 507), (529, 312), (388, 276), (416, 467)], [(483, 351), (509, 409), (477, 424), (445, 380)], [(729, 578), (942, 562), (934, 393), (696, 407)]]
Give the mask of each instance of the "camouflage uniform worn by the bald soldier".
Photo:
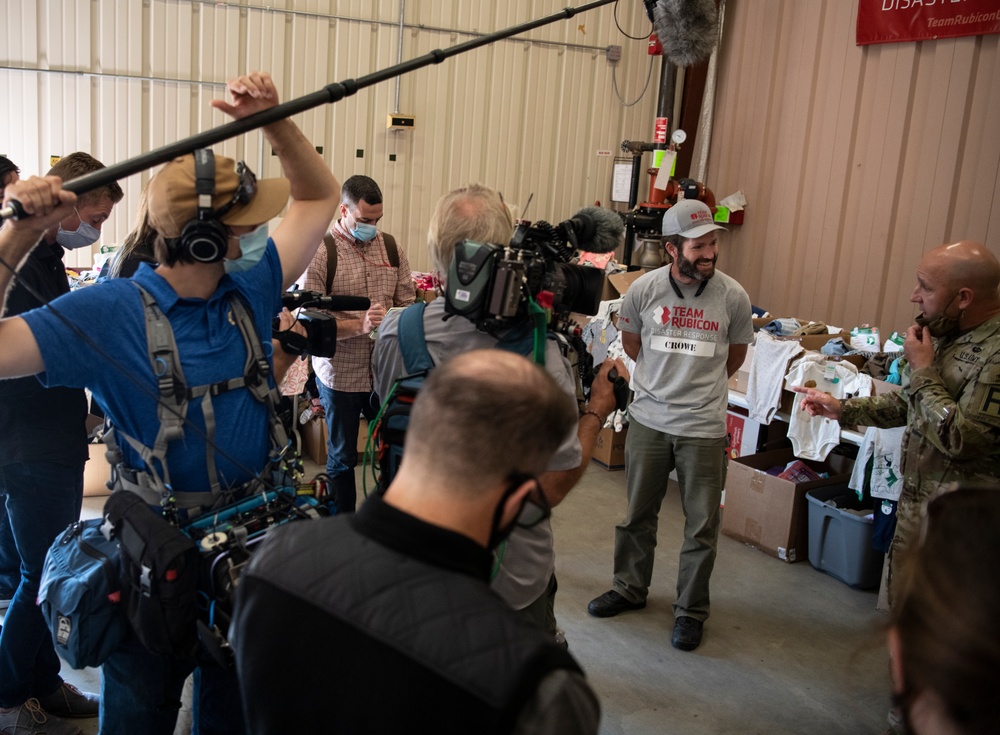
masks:
[(904, 369), (902, 389), (843, 402), (842, 426), (906, 426), (903, 492), (889, 550), (889, 601), (900, 552), (920, 527), (921, 506), (955, 483), (1000, 488), (1000, 317), (936, 340), (934, 364)]

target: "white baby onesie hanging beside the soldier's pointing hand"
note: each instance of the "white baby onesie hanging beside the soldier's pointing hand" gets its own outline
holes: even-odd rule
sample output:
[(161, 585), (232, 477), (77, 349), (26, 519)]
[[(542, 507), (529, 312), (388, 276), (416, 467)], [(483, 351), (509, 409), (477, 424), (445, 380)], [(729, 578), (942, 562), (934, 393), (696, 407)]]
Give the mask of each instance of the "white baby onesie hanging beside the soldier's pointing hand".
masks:
[[(785, 384), (789, 390), (795, 385), (805, 385), (840, 399), (869, 395), (871, 379), (862, 379), (867, 377), (859, 376), (857, 368), (849, 362), (835, 362), (826, 355), (811, 352), (795, 361), (785, 376)], [(810, 416), (801, 405), (802, 401), (797, 399), (788, 422), (792, 450), (801, 459), (823, 461), (840, 443), (840, 423), (823, 416)]]

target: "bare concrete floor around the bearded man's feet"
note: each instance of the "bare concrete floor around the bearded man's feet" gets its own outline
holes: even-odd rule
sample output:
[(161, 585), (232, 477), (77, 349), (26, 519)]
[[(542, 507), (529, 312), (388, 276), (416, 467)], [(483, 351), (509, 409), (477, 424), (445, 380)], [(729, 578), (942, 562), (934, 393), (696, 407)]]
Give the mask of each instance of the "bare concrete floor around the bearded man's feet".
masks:
[[(670, 646), (682, 523), (674, 488), (661, 511), (648, 606), (612, 619), (589, 616), (587, 603), (611, 585), (624, 482), (624, 472), (593, 465), (553, 515), (556, 614), (601, 700), (602, 735), (885, 730), (888, 660), (876, 594), (851, 589), (807, 561), (785, 564), (722, 536), (704, 642), (691, 653)], [(103, 503), (86, 498), (84, 516), (99, 515)], [(96, 669), (64, 666), (63, 675), (99, 691)], [(189, 720), (185, 708), (178, 732)], [(97, 732), (96, 719), (79, 724), (87, 735)]]

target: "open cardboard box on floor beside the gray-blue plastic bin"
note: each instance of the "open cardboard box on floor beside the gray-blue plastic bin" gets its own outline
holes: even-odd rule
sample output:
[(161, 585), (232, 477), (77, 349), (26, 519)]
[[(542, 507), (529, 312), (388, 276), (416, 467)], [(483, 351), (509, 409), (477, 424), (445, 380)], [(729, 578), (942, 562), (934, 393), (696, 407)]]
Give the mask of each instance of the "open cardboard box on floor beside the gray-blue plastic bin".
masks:
[(724, 534), (789, 564), (808, 556), (806, 493), (846, 484), (854, 466), (847, 457), (831, 454), (826, 462), (805, 460), (817, 472), (829, 472), (829, 478), (796, 485), (767, 474), (771, 467), (784, 467), (795, 459), (788, 448), (730, 460), (722, 514)]

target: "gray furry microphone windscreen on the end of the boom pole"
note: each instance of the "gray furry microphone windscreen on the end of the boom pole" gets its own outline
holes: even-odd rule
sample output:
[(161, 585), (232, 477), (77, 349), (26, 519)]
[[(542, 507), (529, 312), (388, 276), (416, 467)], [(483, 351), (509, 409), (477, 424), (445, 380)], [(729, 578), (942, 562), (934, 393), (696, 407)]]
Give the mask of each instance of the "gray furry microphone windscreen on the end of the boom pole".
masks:
[(715, 0), (657, 0), (653, 30), (671, 63), (693, 66), (704, 61), (719, 39)]

